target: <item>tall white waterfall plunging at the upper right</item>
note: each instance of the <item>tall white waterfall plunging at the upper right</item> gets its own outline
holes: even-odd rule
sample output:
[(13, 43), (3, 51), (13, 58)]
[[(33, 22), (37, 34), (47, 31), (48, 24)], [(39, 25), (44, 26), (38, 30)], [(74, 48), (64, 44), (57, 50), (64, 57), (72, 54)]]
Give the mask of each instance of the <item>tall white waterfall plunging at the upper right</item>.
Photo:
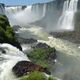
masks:
[(78, 0), (66, 0), (63, 12), (58, 21), (61, 30), (74, 30), (74, 14), (77, 11)]

